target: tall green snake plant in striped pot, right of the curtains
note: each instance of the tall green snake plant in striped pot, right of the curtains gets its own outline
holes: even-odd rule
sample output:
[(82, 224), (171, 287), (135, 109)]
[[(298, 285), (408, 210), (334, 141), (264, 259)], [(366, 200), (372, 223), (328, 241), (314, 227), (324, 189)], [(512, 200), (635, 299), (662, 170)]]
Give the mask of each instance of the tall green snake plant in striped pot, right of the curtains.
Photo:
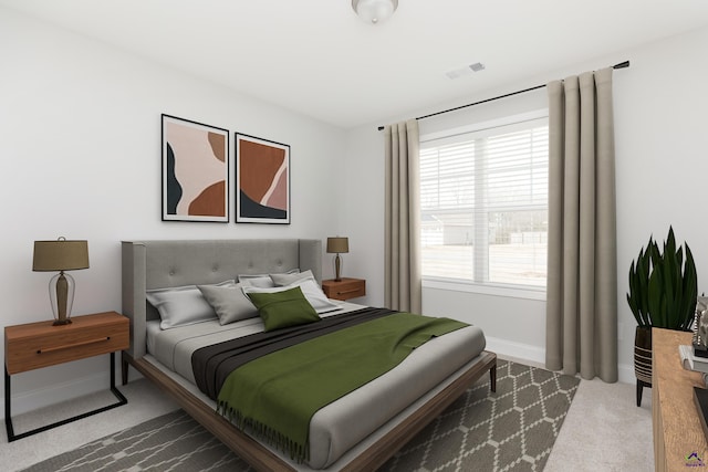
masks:
[(650, 237), (629, 266), (627, 303), (637, 321), (634, 338), (634, 373), (637, 377), (637, 407), (644, 387), (652, 387), (652, 327), (688, 331), (696, 312), (698, 280), (694, 255), (676, 248), (669, 227), (663, 250)]

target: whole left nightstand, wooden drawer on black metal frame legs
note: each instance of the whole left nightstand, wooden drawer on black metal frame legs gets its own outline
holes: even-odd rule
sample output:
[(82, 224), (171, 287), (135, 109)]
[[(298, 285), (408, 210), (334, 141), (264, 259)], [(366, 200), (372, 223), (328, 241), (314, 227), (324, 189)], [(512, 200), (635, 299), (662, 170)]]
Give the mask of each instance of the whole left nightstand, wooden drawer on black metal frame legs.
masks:
[[(52, 321), (6, 326), (4, 328), (4, 422), (8, 441), (46, 431), (91, 415), (127, 403), (115, 387), (115, 353), (129, 347), (131, 322), (116, 312), (72, 316), (69, 325), (53, 326)], [(111, 354), (111, 391), (117, 402), (14, 434), (11, 417), (10, 376), (86, 357)]]

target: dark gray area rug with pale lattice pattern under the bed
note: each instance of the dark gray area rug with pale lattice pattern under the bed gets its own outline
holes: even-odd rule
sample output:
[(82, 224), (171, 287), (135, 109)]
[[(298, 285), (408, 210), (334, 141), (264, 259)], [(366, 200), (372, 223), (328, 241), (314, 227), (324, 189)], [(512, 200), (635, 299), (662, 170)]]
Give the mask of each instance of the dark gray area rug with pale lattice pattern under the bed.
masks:
[[(504, 360), (381, 471), (542, 471), (580, 380)], [(184, 411), (155, 418), (27, 471), (251, 471)]]

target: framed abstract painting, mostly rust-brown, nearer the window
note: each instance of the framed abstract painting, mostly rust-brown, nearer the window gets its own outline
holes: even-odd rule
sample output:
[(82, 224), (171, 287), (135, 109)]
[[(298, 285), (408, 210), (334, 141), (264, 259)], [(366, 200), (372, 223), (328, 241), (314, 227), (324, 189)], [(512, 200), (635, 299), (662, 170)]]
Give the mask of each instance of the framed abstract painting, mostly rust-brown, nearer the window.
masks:
[(236, 222), (290, 223), (290, 146), (236, 134)]

